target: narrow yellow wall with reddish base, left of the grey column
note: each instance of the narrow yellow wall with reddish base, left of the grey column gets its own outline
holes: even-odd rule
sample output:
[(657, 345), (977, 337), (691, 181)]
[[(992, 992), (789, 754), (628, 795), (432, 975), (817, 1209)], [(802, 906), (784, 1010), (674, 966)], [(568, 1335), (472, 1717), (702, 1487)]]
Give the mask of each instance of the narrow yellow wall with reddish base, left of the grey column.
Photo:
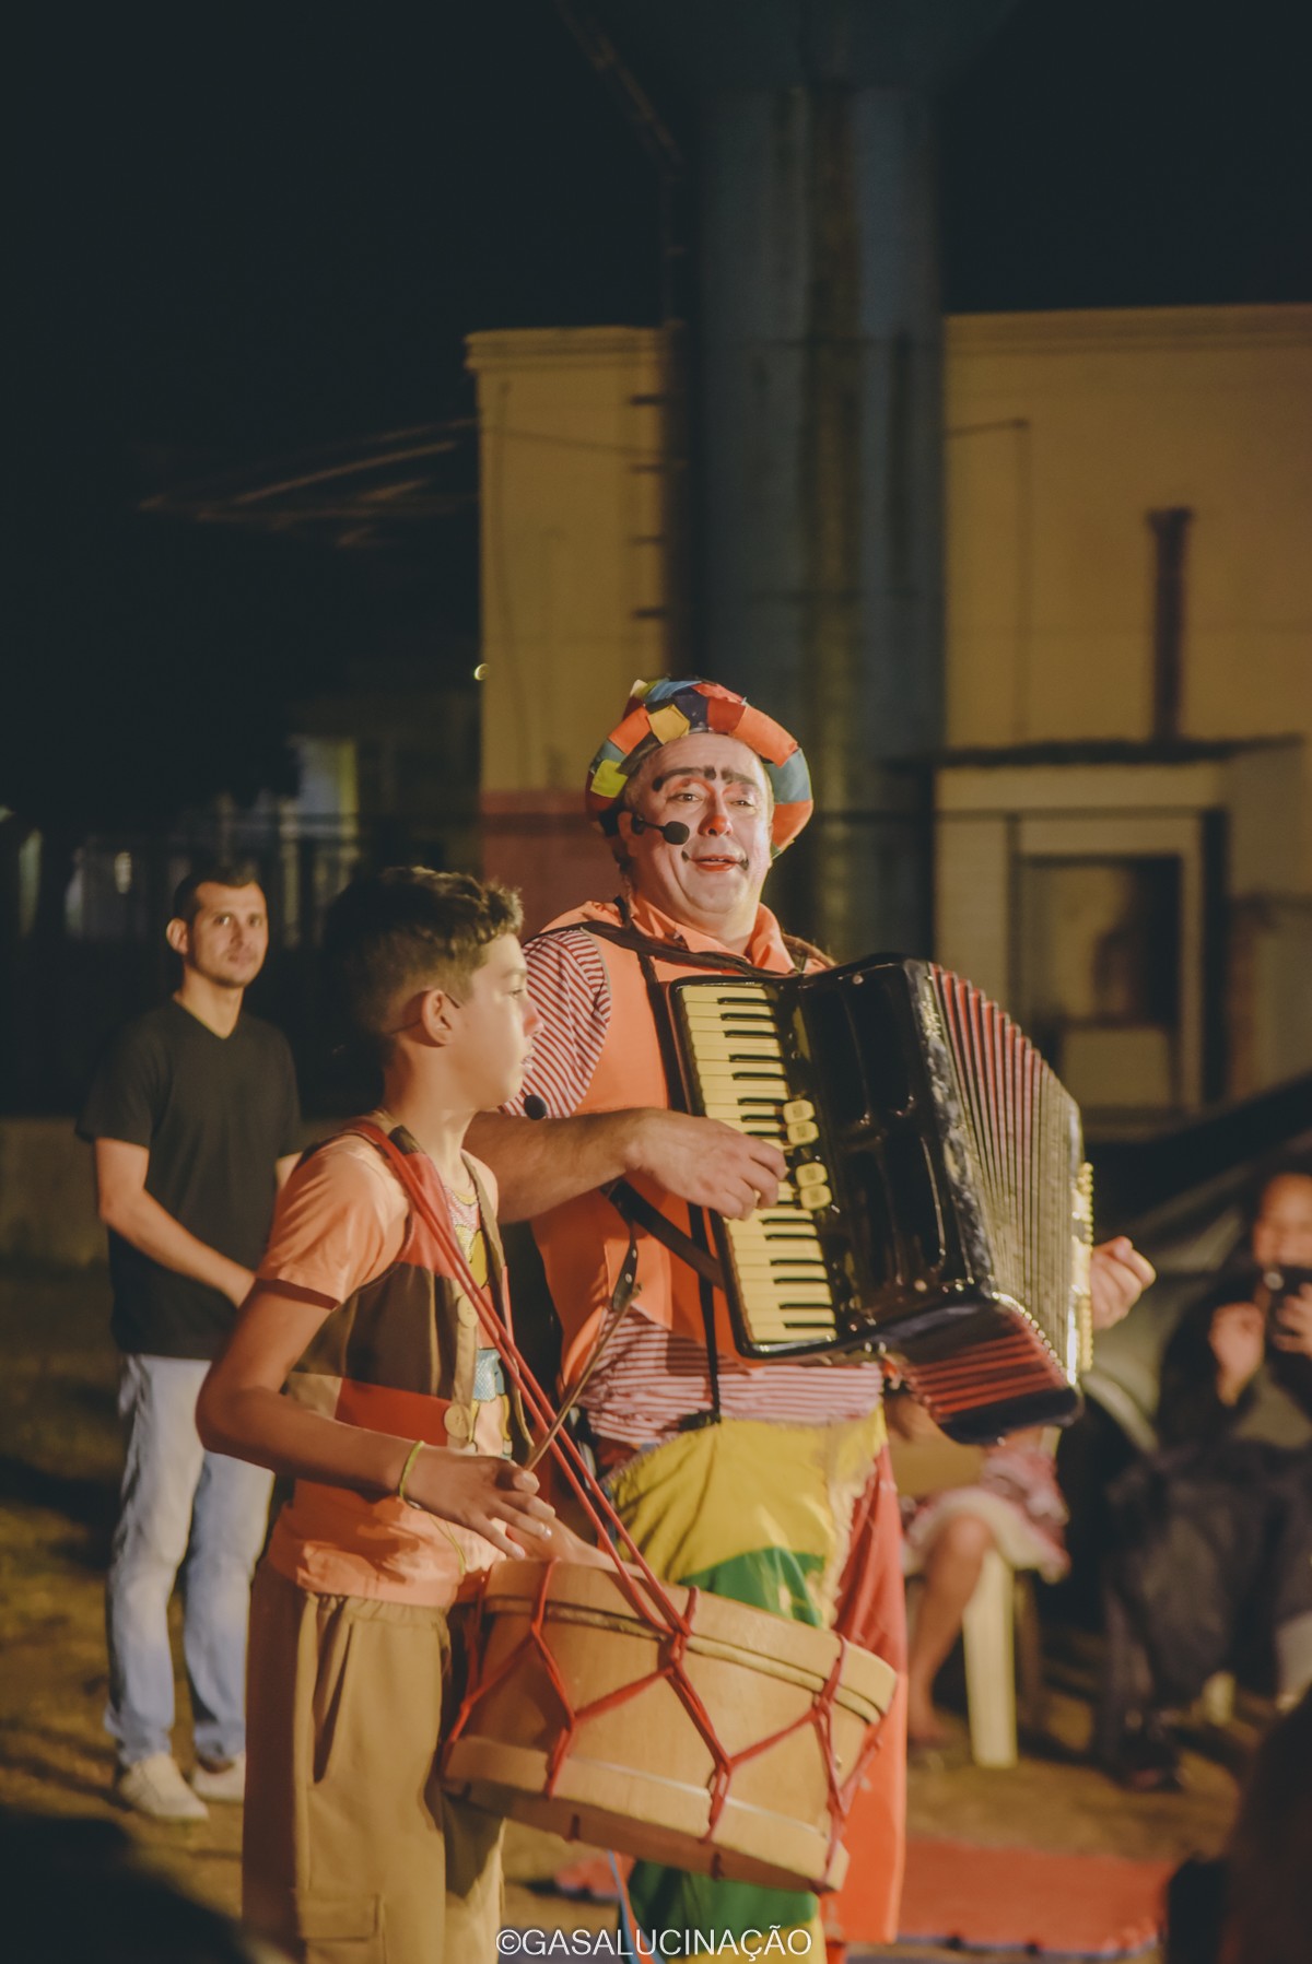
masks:
[(469, 336), (483, 605), (483, 868), (528, 925), (613, 890), (583, 774), (638, 676), (668, 670), (664, 391), (654, 328)]

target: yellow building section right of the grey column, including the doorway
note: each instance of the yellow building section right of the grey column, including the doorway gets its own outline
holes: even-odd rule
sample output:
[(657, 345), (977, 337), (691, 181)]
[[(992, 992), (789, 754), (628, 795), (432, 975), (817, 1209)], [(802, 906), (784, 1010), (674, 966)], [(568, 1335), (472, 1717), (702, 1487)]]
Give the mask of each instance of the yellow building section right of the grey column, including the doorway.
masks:
[(947, 332), (937, 955), (1092, 1119), (1312, 1066), (1312, 308)]

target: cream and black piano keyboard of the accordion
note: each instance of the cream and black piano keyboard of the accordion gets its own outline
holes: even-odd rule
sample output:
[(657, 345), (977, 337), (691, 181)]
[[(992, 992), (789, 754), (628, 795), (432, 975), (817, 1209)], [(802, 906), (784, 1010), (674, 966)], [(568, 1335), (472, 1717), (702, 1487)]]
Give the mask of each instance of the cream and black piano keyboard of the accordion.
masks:
[(752, 1334), (760, 1345), (825, 1343), (835, 1336), (835, 1306), (815, 1216), (833, 1192), (815, 1155), (815, 1110), (790, 1090), (772, 1000), (752, 982), (727, 982), (699, 986), (680, 1008), (697, 1110), (770, 1139), (790, 1161), (776, 1206), (721, 1228)]

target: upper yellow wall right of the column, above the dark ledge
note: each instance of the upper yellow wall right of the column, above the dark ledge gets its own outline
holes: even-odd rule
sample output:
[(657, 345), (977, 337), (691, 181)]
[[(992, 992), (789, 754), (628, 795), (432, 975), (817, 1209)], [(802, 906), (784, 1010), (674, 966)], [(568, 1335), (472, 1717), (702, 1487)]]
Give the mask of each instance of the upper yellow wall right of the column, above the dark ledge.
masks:
[[(953, 746), (1151, 735), (1167, 507), (1182, 735), (1312, 736), (1312, 306), (949, 320)], [(1312, 892), (1308, 799), (1296, 856)]]

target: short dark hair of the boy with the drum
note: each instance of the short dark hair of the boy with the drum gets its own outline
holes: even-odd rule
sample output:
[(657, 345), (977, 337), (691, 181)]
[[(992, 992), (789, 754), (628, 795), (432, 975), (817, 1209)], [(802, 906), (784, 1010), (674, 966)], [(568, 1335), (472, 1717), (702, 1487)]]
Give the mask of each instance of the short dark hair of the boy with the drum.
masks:
[(383, 1045), (418, 988), (464, 990), (483, 951), (517, 935), (519, 894), (467, 872), (389, 866), (338, 894), (324, 921), (324, 962), (357, 1035)]

